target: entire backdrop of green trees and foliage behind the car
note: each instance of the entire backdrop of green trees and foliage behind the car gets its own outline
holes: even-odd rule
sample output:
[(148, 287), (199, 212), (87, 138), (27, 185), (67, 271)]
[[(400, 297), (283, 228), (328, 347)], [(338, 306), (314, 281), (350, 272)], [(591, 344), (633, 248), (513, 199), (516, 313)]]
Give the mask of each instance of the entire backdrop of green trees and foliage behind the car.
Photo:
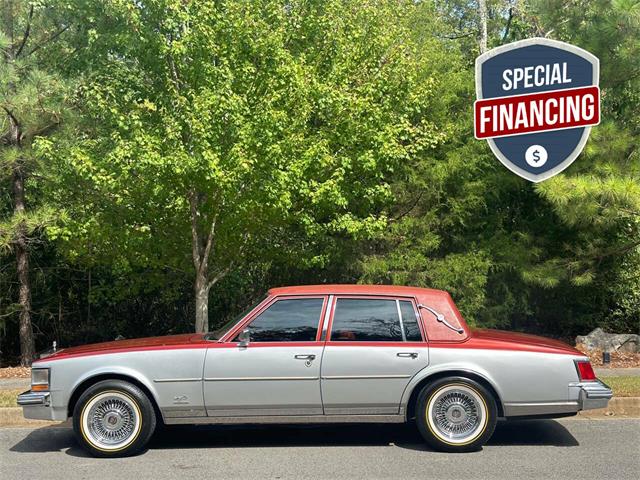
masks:
[(38, 1), (16, 31), (31, 5), (41, 46), (0, 71), (28, 132), (0, 147), (5, 357), (17, 226), (40, 346), (192, 330), (205, 260), (212, 328), (270, 286), (359, 282), (448, 290), (478, 326), (639, 330), (637, 0), (487, 2), (489, 48), (601, 59), (602, 123), (537, 185), (472, 135), (477, 2)]

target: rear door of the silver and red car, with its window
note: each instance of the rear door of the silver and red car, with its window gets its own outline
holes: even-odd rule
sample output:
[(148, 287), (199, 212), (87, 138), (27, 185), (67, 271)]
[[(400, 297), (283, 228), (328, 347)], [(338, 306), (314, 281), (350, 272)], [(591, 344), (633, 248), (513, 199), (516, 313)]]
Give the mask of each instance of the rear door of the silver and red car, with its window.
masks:
[(326, 415), (398, 414), (409, 380), (429, 364), (412, 298), (337, 296), (322, 357)]

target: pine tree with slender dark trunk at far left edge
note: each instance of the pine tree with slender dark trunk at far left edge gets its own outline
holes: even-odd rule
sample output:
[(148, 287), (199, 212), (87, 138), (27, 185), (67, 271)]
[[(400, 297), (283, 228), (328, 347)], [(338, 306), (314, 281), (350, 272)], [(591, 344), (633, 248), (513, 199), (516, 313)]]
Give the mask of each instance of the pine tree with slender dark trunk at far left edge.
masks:
[(48, 68), (52, 46), (69, 29), (59, 20), (60, 7), (52, 14), (52, 7), (41, 2), (2, 2), (0, 185), (12, 208), (0, 220), (0, 248), (15, 256), (22, 365), (30, 365), (35, 353), (30, 253), (52, 218), (51, 209), (30, 194), (39, 181), (33, 145), (55, 131), (63, 117), (65, 85)]

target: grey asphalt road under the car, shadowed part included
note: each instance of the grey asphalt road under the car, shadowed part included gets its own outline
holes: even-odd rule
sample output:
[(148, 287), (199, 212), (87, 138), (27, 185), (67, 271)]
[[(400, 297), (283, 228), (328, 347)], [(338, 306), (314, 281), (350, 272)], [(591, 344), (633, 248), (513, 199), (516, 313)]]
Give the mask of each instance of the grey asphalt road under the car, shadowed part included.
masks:
[(430, 451), (404, 425), (173, 427), (142, 455), (88, 457), (69, 428), (0, 429), (13, 479), (637, 479), (640, 419), (499, 423), (480, 452)]

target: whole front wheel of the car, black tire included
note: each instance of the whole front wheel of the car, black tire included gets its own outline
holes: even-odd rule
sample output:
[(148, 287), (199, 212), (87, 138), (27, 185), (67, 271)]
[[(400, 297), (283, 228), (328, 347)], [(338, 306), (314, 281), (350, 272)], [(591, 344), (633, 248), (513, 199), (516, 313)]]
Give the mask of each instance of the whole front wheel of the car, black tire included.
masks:
[(122, 380), (89, 387), (73, 411), (73, 430), (82, 447), (97, 457), (124, 457), (142, 450), (156, 427), (147, 395)]

